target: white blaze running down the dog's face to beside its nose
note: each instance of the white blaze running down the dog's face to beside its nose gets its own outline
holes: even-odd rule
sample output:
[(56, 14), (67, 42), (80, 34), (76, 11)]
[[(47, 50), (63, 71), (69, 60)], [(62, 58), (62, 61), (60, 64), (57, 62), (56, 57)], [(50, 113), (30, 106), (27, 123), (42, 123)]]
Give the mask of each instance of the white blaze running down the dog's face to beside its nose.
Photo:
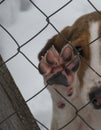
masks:
[[(90, 23), (90, 42), (95, 40), (98, 37), (98, 30), (99, 30), (99, 22)], [(90, 66), (99, 74), (101, 74), (101, 65), (100, 65), (100, 40), (96, 40), (94, 43), (90, 45), (90, 53), (91, 53), (91, 62)], [(95, 86), (95, 84), (101, 81), (101, 78), (89, 67), (85, 72), (84, 76), (84, 86), (82, 91), (82, 99), (85, 103), (89, 100), (88, 93)]]

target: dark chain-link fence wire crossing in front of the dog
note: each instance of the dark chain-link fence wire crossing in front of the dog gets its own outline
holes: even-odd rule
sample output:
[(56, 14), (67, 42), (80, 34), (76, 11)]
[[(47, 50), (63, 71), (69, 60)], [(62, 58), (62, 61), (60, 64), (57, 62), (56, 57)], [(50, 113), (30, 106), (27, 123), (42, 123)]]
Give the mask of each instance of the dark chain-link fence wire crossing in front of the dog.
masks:
[[(0, 1), (0, 6), (2, 6), (3, 2), (5, 2), (6, 0), (1, 0)], [(9, 62), (10, 60), (12, 60), (13, 58), (15, 58), (17, 55), (21, 54), (36, 70), (38, 70), (38, 67), (27, 57), (27, 55), (25, 53), (23, 53), (21, 51), (21, 48), (23, 48), (24, 46), (28, 45), (30, 43), (30, 41), (32, 41), (34, 38), (38, 37), (40, 33), (42, 33), (49, 25), (57, 32), (57, 34), (59, 34), (59, 36), (65, 41), (65, 42), (68, 42), (68, 43), (71, 43), (71, 41), (68, 41), (68, 39), (65, 38), (65, 36), (63, 36), (59, 30), (55, 27), (55, 25), (51, 22), (50, 18), (54, 15), (56, 15), (58, 12), (60, 12), (63, 8), (65, 7), (68, 7), (68, 5), (70, 3), (73, 2), (73, 0), (70, 0), (68, 1), (67, 3), (65, 3), (62, 7), (58, 8), (56, 11), (54, 11), (51, 15), (47, 15), (41, 8), (39, 8), (37, 6), (37, 4), (35, 4), (32, 0), (29, 0), (30, 3), (33, 5), (34, 8), (36, 8), (40, 13), (41, 15), (43, 15), (45, 18), (46, 18), (46, 25), (40, 29), (39, 32), (37, 32), (33, 37), (31, 37), (28, 41), (26, 41), (25, 43), (23, 43), (21, 46), (20, 44), (17, 42), (17, 40), (13, 37), (13, 35), (3, 26), (0, 24), (0, 27), (3, 31), (5, 31), (9, 37), (11, 37), (11, 39), (14, 41), (14, 43), (16, 44), (17, 46), (17, 49), (15, 52), (15, 54), (13, 56), (11, 56), (9, 59), (7, 59), (6, 61), (4, 61), (0, 67), (4, 64), (6, 64), (7, 62)], [(94, 8), (95, 11), (97, 11), (99, 13), (99, 15), (101, 15), (101, 12), (94, 6), (94, 4), (90, 1), (90, 0), (87, 0), (88, 4), (91, 5), (92, 8)], [(95, 41), (99, 40), (101, 38), (101, 36), (97, 37), (96, 39), (94, 39), (93, 41), (91, 41), (88, 45), (84, 46), (82, 49), (84, 49), (85, 47), (87, 46), (90, 46), (91, 44), (93, 44)], [(75, 48), (76, 49), (76, 48)], [(77, 51), (77, 50), (76, 50)], [(77, 51), (77, 53), (79, 53)], [(84, 63), (89, 66), (89, 68), (94, 71), (94, 73), (96, 73), (99, 77), (101, 77), (101, 75), (96, 72), (96, 70), (94, 70), (94, 68), (92, 68), (89, 63), (87, 63), (86, 59), (84, 57), (82, 57)], [(40, 90), (38, 93), (34, 94), (32, 97), (30, 97), (28, 100), (26, 100), (25, 102), (28, 103), (29, 101), (33, 100), (36, 96), (38, 96), (40, 93), (42, 93), (46, 88), (47, 88), (48, 84), (46, 86), (44, 86), (44, 88), (42, 90)], [(71, 124), (77, 117), (80, 118), (80, 120), (82, 120), (85, 125), (90, 129), (90, 130), (95, 130), (94, 128), (92, 128), (92, 126), (90, 126), (90, 124), (88, 124), (86, 122), (86, 120), (82, 117), (82, 115), (80, 115), (80, 111), (82, 111), (83, 109), (85, 109), (85, 107), (87, 107), (91, 101), (89, 101), (87, 104), (85, 104), (84, 106), (82, 106), (81, 108), (76, 108), (75, 105), (72, 104), (72, 102), (70, 102), (69, 100), (67, 100), (67, 98), (64, 97), (64, 95), (62, 95), (62, 93), (60, 93), (58, 90), (55, 89), (55, 91), (57, 92), (58, 95), (60, 95), (68, 104), (70, 104), (71, 107), (74, 108), (75, 110), (75, 115), (74, 117), (69, 121), (67, 122), (66, 124), (64, 124), (64, 126), (62, 126), (60, 129), (58, 130), (62, 130), (63, 128), (65, 128), (66, 126), (68, 126), (69, 124)], [(21, 108), (20, 108), (21, 109)], [(5, 119), (3, 119), (2, 121), (0, 121), (0, 125), (2, 123), (5, 123), (6, 120), (9, 120), (9, 118), (11, 118), (12, 116), (14, 116), (17, 112), (13, 112), (11, 113), (9, 116), (7, 116)], [(35, 119), (36, 122), (38, 122), (40, 125), (42, 125), (46, 130), (49, 130), (49, 128), (47, 128), (42, 122), (40, 122), (39, 120)]]

